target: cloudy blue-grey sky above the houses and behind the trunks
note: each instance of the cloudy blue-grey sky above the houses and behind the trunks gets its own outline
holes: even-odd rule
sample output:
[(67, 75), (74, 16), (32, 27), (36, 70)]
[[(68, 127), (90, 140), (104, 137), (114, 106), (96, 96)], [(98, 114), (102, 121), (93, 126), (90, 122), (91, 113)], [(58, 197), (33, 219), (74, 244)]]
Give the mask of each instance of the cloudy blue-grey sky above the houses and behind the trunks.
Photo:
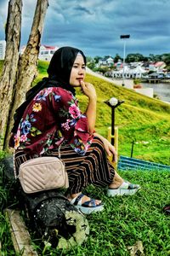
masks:
[[(36, 0), (23, 0), (21, 43), (26, 45)], [(48, 0), (41, 44), (72, 46), (88, 56), (170, 53), (169, 0)], [(0, 0), (0, 40), (8, 0)], [(121, 39), (121, 35), (130, 38)]]

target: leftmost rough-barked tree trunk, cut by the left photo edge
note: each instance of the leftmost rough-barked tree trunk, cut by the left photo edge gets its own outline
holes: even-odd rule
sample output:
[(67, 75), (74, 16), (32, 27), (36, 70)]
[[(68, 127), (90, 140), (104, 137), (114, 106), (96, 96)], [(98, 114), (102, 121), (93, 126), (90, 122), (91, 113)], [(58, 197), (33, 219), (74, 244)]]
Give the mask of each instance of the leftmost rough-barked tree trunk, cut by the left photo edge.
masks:
[(6, 52), (3, 72), (0, 78), (0, 138), (3, 137), (8, 122), (10, 102), (12, 102), (14, 79), (19, 61), (20, 27), (21, 27), (21, 0), (10, 0), (8, 3), (8, 18), (6, 25)]

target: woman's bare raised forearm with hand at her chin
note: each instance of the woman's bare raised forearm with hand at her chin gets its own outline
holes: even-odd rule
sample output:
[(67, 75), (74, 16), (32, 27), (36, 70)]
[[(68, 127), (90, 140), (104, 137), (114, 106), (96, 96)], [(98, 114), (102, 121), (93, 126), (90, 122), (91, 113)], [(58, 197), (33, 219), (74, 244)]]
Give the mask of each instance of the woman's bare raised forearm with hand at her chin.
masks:
[(88, 96), (88, 108), (86, 110), (86, 115), (88, 118), (89, 132), (93, 133), (95, 128), (95, 120), (96, 120), (96, 102), (97, 102), (96, 91), (93, 84), (85, 83), (82, 80), (80, 84), (82, 86), (82, 92), (86, 96)]

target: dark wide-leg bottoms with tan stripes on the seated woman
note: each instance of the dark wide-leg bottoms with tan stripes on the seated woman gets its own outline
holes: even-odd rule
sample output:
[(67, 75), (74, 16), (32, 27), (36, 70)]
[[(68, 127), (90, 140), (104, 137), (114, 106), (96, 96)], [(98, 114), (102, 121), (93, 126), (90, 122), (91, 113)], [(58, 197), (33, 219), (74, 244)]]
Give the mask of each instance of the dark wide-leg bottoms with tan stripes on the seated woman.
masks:
[[(77, 194), (89, 184), (100, 187), (111, 184), (115, 170), (107, 159), (104, 144), (98, 137), (94, 137), (93, 143), (83, 156), (77, 154), (68, 144), (61, 145), (60, 154), (69, 177), (69, 193)], [(58, 156), (58, 148), (48, 150), (43, 155)], [(31, 158), (31, 155), (24, 153), (23, 150), (17, 150), (14, 160), (16, 171), (18, 172), (20, 164)]]

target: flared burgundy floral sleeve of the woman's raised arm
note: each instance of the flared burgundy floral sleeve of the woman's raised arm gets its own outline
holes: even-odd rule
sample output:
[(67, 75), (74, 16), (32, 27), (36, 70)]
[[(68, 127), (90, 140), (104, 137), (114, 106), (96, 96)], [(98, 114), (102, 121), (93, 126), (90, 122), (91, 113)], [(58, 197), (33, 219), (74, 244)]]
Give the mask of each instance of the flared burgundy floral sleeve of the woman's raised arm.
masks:
[(81, 113), (77, 98), (66, 90), (60, 98), (59, 119), (65, 139), (78, 154), (85, 154), (94, 136), (88, 132), (88, 119)]

